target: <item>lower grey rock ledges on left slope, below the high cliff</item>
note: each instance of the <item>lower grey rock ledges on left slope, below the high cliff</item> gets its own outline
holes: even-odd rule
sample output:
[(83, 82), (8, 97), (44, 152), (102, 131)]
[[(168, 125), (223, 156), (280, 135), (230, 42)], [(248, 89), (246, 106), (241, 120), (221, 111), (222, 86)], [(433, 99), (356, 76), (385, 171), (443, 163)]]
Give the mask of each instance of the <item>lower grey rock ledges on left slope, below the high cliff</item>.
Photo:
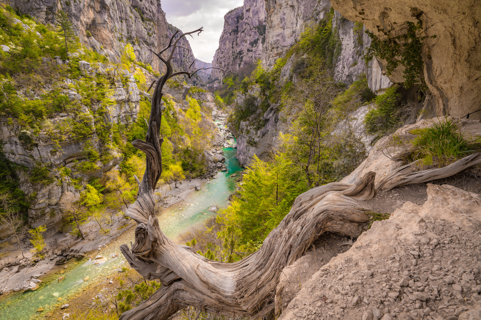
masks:
[[(44, 63), (64, 64), (65, 62), (61, 59), (49, 61), (49, 59), (44, 58)], [(80, 61), (79, 65), (84, 74), (95, 75), (95, 73), (101, 73), (111, 76), (114, 74), (114, 68), (111, 65), (101, 63), (91, 65), (87, 61)], [(140, 96), (133, 74), (128, 70), (121, 70), (119, 73), (125, 77), (125, 80), (121, 77), (114, 77), (114, 89), (108, 95), (112, 104), (103, 117), (105, 124), (108, 126), (127, 124), (136, 120), (139, 112)], [(122, 80), (124, 80), (124, 83)], [(71, 101), (80, 102), (82, 97), (75, 89), (76, 81), (79, 80), (67, 78), (63, 83), (57, 83), (56, 85), (61, 89), (62, 94), (68, 95)], [(48, 92), (48, 86), (45, 87), (45, 90)], [(92, 178), (101, 178), (104, 172), (117, 166), (122, 159), (121, 154), (112, 150), (108, 159), (97, 160), (94, 166), (88, 170), (78, 169), (79, 166), (82, 166), (82, 163), (87, 161), (88, 152), (86, 148), (98, 153), (101, 153), (101, 150), (106, 147), (109, 148), (109, 146), (102, 145), (99, 142), (97, 130), (104, 129), (94, 124), (94, 116), (92, 115), (95, 115), (95, 110), (86, 106), (81, 108), (80, 114), (77, 114), (76, 111), (55, 114), (47, 120), (49, 124), (44, 125), (37, 134), (25, 130), (17, 119), (0, 118), (1, 151), (7, 159), (25, 167), (18, 174), (21, 181), (20, 188), (31, 199), (31, 206), (28, 209), (28, 223), (31, 227), (46, 225), (48, 234), (60, 230), (64, 215), (60, 204), (63, 200), (71, 199), (73, 201), (79, 197), (79, 191), (74, 188), (72, 178), (79, 178), (85, 182)], [(68, 125), (79, 121), (79, 119), (87, 124), (92, 131), (91, 134), (82, 138), (76, 138), (75, 134), (67, 134), (59, 141), (58, 137), (61, 132), (51, 128), (61, 128), (62, 124)], [(25, 135), (28, 136), (28, 139), (25, 139)], [(27, 170), (35, 166), (46, 167), (53, 178), (53, 182), (48, 184), (32, 183)], [(72, 176), (63, 176), (57, 170), (59, 167), (72, 170)], [(74, 170), (74, 168), (77, 169)], [(8, 235), (9, 230), (0, 228), (0, 239)]]

